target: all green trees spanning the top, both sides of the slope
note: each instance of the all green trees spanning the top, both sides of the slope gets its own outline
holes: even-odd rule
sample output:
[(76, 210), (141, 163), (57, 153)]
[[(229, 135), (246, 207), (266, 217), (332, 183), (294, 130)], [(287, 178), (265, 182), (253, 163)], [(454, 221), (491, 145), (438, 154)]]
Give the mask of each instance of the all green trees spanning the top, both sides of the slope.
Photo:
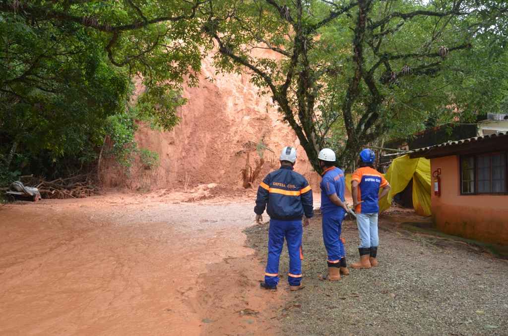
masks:
[(93, 171), (105, 142), (126, 166), (156, 164), (136, 120), (176, 125), (209, 52), (273, 97), (316, 170), (325, 146), (347, 165), (365, 144), (505, 108), (506, 14), (502, 0), (5, 0), (0, 180)]

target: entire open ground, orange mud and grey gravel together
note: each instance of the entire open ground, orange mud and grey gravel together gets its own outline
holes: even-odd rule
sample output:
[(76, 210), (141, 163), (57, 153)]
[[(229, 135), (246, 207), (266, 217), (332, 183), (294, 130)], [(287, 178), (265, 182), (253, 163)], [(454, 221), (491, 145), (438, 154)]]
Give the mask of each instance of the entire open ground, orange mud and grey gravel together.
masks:
[[(428, 223), (410, 211), (380, 220), (378, 267), (337, 283), (319, 279), (316, 215), (304, 229), (306, 287), (261, 290), (268, 226), (254, 225), (254, 197), (209, 185), (0, 207), (0, 334), (508, 334), (508, 262), (408, 230)], [(352, 262), (357, 231), (344, 225)], [(287, 267), (284, 248), (279, 273)]]

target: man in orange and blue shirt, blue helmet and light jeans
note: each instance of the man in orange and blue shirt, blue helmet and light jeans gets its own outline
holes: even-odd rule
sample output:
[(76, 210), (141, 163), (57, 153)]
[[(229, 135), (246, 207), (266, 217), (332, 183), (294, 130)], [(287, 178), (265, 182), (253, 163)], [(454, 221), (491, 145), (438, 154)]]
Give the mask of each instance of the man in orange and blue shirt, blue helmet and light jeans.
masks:
[[(360, 236), (360, 261), (351, 264), (353, 268), (370, 268), (377, 266), (377, 215), (379, 198), (390, 190), (385, 177), (374, 169), (374, 152), (364, 149), (360, 152), (360, 168), (353, 173), (351, 191), (353, 206), (356, 212), (358, 234)], [(383, 191), (379, 194), (379, 189)]]

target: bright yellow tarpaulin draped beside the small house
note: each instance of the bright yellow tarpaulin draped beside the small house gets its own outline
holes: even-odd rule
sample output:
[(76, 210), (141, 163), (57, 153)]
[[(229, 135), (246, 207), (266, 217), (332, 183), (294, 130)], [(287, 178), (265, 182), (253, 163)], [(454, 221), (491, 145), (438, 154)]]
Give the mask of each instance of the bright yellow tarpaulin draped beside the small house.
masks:
[[(390, 208), (393, 196), (401, 192), (412, 182), (413, 207), (417, 214), (430, 216), (430, 160), (411, 159), (408, 155), (396, 158), (390, 164), (385, 175), (392, 189), (379, 200), (379, 211)], [(351, 174), (346, 175), (346, 186), (351, 191)]]

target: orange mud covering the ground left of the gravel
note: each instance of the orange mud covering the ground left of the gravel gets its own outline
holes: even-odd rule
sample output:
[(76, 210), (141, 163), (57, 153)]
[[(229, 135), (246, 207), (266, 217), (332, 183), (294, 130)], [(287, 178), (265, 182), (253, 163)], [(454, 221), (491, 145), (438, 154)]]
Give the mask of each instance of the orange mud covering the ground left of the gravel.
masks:
[[(0, 208), (0, 334), (275, 334), (252, 199), (113, 194)], [(282, 287), (283, 288), (283, 287)]]

